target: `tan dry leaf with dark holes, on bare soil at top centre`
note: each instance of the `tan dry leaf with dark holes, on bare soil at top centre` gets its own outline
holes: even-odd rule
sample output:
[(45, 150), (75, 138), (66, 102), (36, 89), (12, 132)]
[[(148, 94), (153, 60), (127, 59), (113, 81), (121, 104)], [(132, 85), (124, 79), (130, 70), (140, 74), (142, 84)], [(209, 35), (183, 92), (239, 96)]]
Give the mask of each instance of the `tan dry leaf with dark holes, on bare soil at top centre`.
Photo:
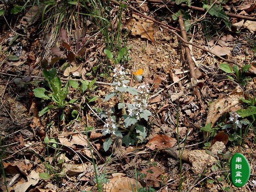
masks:
[(142, 38), (146, 38), (155, 44), (153, 24), (154, 22), (149, 19), (140, 18), (140, 16), (132, 14), (127, 27), (131, 30), (132, 35), (140, 35)]

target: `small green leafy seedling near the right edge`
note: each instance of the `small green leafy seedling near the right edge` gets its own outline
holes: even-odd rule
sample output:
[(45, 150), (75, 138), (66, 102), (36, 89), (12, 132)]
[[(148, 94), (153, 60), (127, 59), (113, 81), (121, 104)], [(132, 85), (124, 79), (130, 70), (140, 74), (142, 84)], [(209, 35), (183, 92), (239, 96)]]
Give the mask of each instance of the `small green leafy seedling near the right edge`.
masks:
[(231, 74), (232, 76), (227, 75), (228, 78), (236, 81), (237, 83), (240, 83), (241, 86), (245, 86), (246, 82), (250, 80), (250, 77), (246, 77), (245, 75), (246, 75), (246, 72), (248, 72), (251, 65), (244, 65), (242, 69), (239, 69), (237, 65), (234, 65), (233, 71), (231, 67), (226, 63), (219, 64), (219, 67), (226, 73)]

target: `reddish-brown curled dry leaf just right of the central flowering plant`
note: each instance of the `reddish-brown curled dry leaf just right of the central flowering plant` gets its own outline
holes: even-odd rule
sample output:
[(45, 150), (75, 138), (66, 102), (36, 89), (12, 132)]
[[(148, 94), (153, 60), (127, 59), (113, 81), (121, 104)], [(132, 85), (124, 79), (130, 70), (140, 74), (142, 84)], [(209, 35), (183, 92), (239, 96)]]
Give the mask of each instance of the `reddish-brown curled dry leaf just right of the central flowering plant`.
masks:
[(146, 144), (146, 147), (151, 150), (170, 148), (175, 145), (176, 139), (167, 135), (156, 135)]

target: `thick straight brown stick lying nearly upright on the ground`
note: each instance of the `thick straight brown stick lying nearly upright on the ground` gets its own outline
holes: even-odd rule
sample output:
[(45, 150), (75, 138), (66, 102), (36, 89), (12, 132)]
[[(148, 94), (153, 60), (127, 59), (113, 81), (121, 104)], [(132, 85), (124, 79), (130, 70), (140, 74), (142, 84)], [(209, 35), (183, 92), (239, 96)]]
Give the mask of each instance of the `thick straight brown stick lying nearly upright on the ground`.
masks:
[[(181, 14), (181, 18), (182, 18), (182, 14)], [(185, 41), (187, 41), (186, 30), (185, 30), (185, 27), (184, 27), (184, 24), (183, 24), (183, 19), (181, 19), (181, 18), (179, 18), (179, 24), (180, 24), (180, 28), (181, 28), (181, 35), (182, 35), (182, 38)], [(188, 44), (184, 43), (184, 47), (185, 47), (186, 59), (188, 61), (188, 65), (189, 65), (189, 69), (190, 69), (190, 75), (191, 75), (191, 79), (190, 80), (191, 80), (191, 84), (192, 84), (192, 87), (193, 87), (194, 95), (197, 96), (197, 99), (199, 100), (200, 105), (201, 105), (201, 109), (205, 109), (205, 107), (203, 105), (203, 102), (202, 102), (201, 94), (200, 94), (198, 88), (196, 87), (196, 85), (197, 85), (197, 77), (196, 77), (194, 63), (193, 63), (193, 60), (191, 58), (191, 54), (190, 54), (190, 50), (189, 50)]]

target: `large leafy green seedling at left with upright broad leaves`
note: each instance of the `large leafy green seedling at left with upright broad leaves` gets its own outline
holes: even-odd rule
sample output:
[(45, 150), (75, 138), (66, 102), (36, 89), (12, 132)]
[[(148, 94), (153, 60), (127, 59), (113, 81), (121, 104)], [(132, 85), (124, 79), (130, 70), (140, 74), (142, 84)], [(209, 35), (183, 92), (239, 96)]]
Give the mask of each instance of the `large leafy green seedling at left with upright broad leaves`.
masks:
[(45, 88), (35, 88), (33, 90), (35, 97), (42, 98), (43, 100), (50, 99), (55, 102), (55, 105), (51, 104), (46, 106), (43, 110), (41, 110), (38, 115), (39, 117), (48, 112), (51, 108), (60, 108), (62, 109), (61, 120), (64, 119), (63, 109), (76, 101), (76, 99), (72, 99), (67, 102), (65, 99), (69, 93), (69, 80), (64, 87), (62, 86), (62, 82), (60, 78), (57, 76), (56, 68), (52, 68), (49, 71), (43, 70), (43, 76), (47, 81), (47, 86), (51, 89), (52, 92), (46, 91)]

